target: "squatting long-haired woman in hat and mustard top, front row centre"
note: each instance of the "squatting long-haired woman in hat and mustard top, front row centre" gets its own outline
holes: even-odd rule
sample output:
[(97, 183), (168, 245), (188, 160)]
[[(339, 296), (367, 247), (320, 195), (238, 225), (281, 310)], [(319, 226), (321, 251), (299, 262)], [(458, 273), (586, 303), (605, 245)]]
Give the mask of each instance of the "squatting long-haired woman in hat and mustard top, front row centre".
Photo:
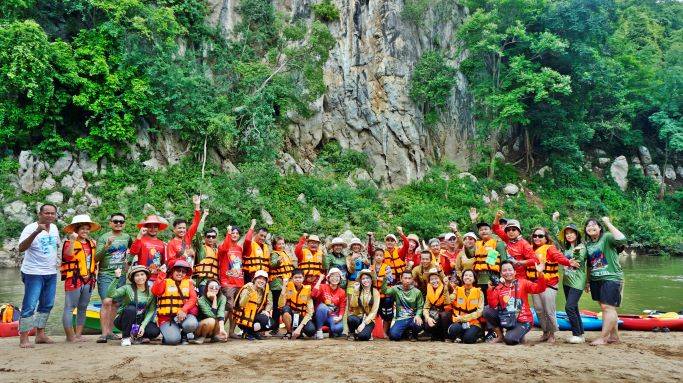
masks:
[(348, 323), (352, 339), (368, 341), (375, 329), (375, 318), (379, 311), (380, 295), (374, 287), (374, 273), (363, 269), (359, 281), (352, 283), (349, 294)]

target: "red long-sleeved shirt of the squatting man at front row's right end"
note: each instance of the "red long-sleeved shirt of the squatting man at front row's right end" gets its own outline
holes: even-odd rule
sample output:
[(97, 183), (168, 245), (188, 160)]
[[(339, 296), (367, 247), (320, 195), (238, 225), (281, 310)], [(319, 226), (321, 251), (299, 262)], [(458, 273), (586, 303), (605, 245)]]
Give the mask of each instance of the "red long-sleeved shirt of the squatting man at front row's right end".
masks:
[[(534, 321), (534, 317), (531, 315), (531, 310), (529, 309), (529, 294), (540, 294), (545, 291), (545, 278), (539, 278), (538, 282), (534, 283), (528, 279), (517, 278), (517, 294), (515, 294), (515, 283), (505, 284), (500, 283), (498, 286), (489, 289), (486, 292), (486, 302), (489, 307), (498, 308), (500, 303), (501, 308), (506, 308), (509, 305), (508, 310), (516, 308), (519, 310), (519, 316), (517, 320), (522, 323), (531, 323)], [(514, 296), (516, 301), (510, 301)], [(521, 301), (521, 307), (520, 303)]]

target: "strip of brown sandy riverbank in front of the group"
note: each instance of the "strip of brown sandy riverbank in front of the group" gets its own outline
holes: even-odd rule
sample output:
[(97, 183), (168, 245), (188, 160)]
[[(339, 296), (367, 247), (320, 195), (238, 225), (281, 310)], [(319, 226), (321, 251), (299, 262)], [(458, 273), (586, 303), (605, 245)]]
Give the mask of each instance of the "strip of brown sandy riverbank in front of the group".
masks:
[(603, 347), (540, 344), (539, 336), (514, 347), (268, 339), (127, 348), (88, 336), (30, 350), (2, 338), (0, 382), (673, 382), (683, 371), (683, 333), (622, 332), (622, 344)]

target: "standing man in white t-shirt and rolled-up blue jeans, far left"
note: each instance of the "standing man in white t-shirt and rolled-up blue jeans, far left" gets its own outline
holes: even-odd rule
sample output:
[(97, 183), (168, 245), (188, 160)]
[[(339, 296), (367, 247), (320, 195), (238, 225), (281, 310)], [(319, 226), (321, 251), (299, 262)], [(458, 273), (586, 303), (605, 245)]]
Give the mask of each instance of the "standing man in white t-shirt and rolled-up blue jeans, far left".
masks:
[(59, 229), (54, 224), (56, 219), (57, 207), (44, 204), (38, 211), (38, 221), (27, 225), (19, 236), (19, 252), (24, 253), (21, 262), (24, 299), (19, 319), (19, 346), (22, 348), (33, 347), (29, 332), (34, 328), (37, 329), (36, 344), (54, 343), (45, 334), (45, 327), (57, 292)]

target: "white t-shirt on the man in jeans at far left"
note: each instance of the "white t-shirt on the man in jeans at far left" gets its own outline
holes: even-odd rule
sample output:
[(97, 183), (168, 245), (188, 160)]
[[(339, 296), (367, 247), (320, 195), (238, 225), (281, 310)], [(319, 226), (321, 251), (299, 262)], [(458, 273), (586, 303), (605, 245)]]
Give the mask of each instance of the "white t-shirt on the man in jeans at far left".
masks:
[[(28, 238), (38, 228), (38, 222), (33, 222), (24, 228), (19, 237), (19, 243)], [(21, 262), (21, 272), (33, 275), (51, 275), (58, 271), (59, 229), (50, 224), (50, 232), (41, 231), (31, 245), (24, 252)]]

